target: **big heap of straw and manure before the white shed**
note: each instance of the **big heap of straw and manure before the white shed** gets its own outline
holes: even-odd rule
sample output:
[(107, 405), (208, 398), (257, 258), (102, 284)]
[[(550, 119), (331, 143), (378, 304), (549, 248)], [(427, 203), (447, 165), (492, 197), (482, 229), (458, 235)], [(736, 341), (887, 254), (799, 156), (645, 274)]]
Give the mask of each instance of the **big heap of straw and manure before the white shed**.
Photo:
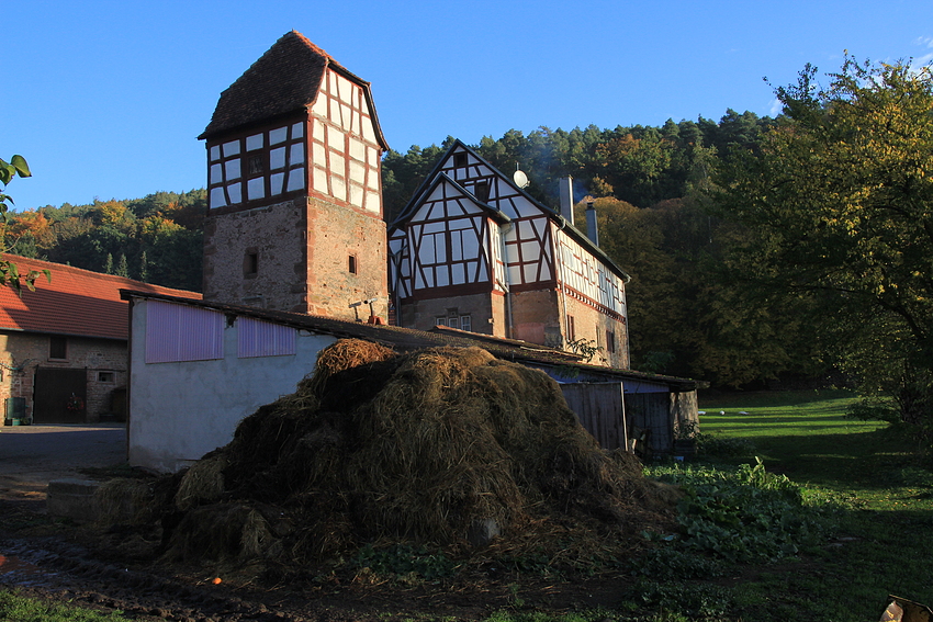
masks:
[(670, 505), (544, 373), (479, 348), (323, 350), (297, 391), (162, 484), (169, 558), (303, 564), (366, 543), (617, 557)]

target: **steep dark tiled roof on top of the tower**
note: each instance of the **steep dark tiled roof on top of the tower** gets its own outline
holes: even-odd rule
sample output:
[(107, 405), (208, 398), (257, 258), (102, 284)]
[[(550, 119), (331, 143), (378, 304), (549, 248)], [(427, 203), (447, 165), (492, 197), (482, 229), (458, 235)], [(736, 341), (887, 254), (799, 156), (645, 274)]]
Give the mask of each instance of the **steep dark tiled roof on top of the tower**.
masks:
[(237, 127), (305, 110), (317, 98), (328, 67), (362, 87), (376, 138), (383, 149), (389, 149), (375, 116), (370, 83), (347, 70), (297, 31), (282, 35), (221, 93), (211, 123), (198, 138), (213, 138)]

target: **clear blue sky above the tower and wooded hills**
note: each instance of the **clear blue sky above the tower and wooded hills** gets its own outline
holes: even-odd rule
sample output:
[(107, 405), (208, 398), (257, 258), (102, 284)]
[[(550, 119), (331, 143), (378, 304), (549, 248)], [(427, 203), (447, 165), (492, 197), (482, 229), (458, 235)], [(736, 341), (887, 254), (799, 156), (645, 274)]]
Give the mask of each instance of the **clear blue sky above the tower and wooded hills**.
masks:
[(508, 129), (774, 114), (812, 63), (933, 58), (929, 0), (22, 0), (2, 13), (0, 157), (16, 208), (205, 184), (217, 98), (296, 30), (372, 83), (390, 146)]

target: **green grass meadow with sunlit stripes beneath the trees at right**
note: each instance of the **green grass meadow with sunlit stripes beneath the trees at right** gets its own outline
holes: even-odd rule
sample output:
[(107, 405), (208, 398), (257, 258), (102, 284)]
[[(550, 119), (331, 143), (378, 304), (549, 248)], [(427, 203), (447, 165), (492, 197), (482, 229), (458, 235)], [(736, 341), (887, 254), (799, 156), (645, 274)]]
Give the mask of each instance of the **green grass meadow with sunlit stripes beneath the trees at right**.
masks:
[[(701, 433), (738, 439), (811, 498), (843, 504), (835, 533), (798, 561), (746, 568), (742, 620), (878, 620), (889, 593), (933, 604), (933, 473), (909, 434), (844, 416), (840, 392), (701, 399)], [(715, 444), (715, 443), (713, 443)]]

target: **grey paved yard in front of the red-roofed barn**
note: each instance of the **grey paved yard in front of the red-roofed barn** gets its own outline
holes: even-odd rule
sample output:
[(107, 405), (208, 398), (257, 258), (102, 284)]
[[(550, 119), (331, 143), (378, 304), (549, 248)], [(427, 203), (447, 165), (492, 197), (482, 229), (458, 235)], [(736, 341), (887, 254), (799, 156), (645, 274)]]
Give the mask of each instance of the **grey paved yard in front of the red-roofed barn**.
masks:
[(0, 497), (45, 500), (50, 479), (125, 462), (125, 423), (0, 427)]

